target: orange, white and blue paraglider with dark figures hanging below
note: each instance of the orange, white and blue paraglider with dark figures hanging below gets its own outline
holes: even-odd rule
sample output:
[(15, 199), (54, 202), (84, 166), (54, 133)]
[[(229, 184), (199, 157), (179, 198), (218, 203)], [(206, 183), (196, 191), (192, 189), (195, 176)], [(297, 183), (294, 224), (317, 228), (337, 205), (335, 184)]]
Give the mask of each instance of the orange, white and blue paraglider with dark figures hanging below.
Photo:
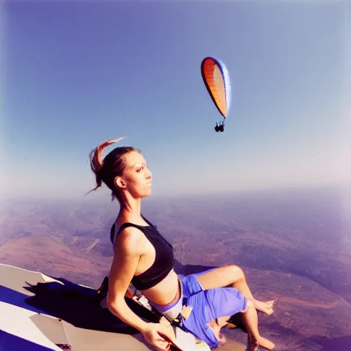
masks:
[(204, 58), (201, 64), (202, 79), (210, 97), (222, 115), (223, 120), (216, 123), (216, 132), (223, 132), (224, 119), (230, 108), (230, 78), (226, 65), (215, 58)]

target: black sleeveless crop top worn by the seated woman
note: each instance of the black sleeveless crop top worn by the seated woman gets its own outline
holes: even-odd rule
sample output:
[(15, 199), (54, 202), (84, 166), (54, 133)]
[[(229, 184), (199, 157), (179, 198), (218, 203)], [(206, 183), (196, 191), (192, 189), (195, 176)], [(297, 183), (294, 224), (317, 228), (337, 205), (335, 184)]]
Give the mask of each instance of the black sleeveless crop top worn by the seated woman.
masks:
[[(145, 219), (145, 221), (147, 221), (147, 219)], [(149, 221), (147, 221), (147, 223), (149, 223), (149, 226), (138, 226), (137, 224), (129, 222), (123, 223), (116, 234), (118, 235), (121, 230), (127, 227), (138, 228), (155, 247), (156, 257), (152, 266), (142, 274), (134, 276), (132, 279), (132, 285), (134, 285), (137, 290), (146, 290), (154, 287), (169, 274), (174, 265), (173, 246), (162, 237), (156, 226), (152, 225)], [(111, 228), (110, 239), (112, 243), (114, 242), (114, 230), (115, 225)]]

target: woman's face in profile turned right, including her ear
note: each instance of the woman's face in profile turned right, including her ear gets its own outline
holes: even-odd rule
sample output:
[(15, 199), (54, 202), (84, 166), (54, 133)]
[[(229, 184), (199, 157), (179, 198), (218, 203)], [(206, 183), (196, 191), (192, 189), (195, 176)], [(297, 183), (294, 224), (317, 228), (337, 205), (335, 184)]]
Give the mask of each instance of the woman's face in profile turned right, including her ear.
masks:
[(116, 178), (117, 187), (128, 191), (132, 197), (149, 196), (152, 193), (152, 173), (147, 169), (145, 158), (139, 152), (125, 154), (125, 169)]

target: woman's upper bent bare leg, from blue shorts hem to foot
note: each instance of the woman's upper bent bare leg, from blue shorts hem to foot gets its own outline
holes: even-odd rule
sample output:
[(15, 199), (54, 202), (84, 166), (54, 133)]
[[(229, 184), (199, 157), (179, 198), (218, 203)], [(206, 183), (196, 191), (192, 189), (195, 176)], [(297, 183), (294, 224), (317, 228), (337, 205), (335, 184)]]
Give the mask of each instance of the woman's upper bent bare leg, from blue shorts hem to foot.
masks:
[(238, 289), (247, 300), (250, 300), (254, 307), (267, 315), (273, 313), (274, 300), (262, 302), (256, 300), (247, 285), (243, 269), (237, 265), (228, 265), (216, 269), (210, 269), (204, 273), (195, 274), (197, 280), (204, 290), (233, 287)]

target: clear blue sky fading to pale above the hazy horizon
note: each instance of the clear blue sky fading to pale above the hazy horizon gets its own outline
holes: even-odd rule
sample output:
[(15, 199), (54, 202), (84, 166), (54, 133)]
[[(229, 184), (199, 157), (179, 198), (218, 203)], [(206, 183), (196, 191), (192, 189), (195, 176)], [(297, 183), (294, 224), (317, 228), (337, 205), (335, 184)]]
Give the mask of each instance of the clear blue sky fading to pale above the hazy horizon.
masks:
[[(350, 182), (346, 1), (3, 1), (1, 23), (8, 195), (82, 197), (118, 136), (156, 195)], [(206, 56), (232, 82), (223, 133)]]

